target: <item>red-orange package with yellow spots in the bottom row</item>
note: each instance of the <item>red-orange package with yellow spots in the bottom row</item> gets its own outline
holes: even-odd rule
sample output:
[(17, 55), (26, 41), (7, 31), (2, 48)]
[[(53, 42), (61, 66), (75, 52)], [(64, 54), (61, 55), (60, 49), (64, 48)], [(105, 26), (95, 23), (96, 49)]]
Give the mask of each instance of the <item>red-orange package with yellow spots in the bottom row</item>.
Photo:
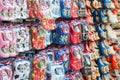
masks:
[(32, 80), (44, 80), (46, 70), (46, 56), (37, 54), (33, 59)]

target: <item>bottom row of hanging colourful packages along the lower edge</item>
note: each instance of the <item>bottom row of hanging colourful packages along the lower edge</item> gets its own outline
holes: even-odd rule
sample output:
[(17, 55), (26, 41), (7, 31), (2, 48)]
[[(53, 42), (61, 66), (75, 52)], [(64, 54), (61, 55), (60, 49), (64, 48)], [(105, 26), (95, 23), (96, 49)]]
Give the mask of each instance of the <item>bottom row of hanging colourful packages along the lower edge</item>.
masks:
[[(29, 53), (28, 53), (29, 54)], [(0, 62), (1, 80), (119, 80), (120, 54), (100, 57), (83, 45), (52, 46)], [(34, 56), (33, 56), (34, 55)]]

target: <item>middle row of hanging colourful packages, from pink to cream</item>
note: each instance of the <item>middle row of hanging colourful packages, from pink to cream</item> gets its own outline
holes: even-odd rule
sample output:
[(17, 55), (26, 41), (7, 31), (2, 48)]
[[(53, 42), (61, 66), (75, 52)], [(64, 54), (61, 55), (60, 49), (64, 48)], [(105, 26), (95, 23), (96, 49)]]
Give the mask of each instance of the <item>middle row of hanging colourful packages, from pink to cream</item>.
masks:
[[(56, 29), (50, 31), (38, 23), (0, 28), (0, 57), (15, 56), (17, 55), (16, 51), (24, 52), (32, 48), (44, 49), (52, 43), (94, 43), (108, 38), (112, 44), (118, 39), (116, 32), (110, 25), (98, 25), (95, 28), (95, 26), (89, 25), (86, 20), (59, 21), (54, 26)], [(106, 29), (102, 29), (102, 27)], [(94, 48), (91, 47), (91, 49)]]

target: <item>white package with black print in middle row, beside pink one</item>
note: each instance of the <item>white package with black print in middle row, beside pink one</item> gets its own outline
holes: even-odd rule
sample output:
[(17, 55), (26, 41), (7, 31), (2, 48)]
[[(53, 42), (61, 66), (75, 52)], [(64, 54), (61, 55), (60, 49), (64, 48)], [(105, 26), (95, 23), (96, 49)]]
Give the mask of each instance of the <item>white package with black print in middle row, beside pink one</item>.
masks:
[(16, 51), (24, 52), (31, 49), (29, 29), (24, 25), (17, 25), (13, 27), (16, 35)]

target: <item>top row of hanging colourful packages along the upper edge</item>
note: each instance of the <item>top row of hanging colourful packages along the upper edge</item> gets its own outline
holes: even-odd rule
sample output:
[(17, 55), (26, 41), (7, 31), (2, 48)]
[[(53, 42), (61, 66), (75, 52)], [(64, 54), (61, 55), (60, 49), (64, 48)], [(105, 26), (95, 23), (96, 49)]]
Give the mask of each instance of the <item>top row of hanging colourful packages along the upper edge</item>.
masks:
[(116, 0), (1, 0), (0, 19), (85, 17), (92, 7), (119, 10), (118, 3)]

